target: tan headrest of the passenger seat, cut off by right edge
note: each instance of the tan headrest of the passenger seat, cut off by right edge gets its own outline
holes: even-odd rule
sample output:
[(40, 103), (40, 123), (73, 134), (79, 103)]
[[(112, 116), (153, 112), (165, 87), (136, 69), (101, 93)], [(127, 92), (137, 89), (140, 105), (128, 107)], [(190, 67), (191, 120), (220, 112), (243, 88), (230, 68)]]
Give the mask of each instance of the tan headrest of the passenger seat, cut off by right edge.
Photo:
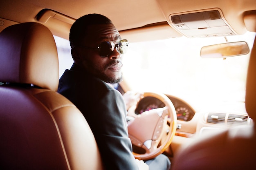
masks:
[(256, 39), (254, 39), (247, 72), (245, 107), (248, 115), (256, 121)]

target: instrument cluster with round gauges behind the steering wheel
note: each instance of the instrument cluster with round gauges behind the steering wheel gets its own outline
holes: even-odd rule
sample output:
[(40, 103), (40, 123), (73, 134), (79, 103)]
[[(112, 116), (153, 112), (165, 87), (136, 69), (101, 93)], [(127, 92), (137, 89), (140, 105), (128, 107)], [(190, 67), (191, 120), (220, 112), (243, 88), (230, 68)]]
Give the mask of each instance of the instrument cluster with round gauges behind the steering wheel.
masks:
[[(187, 104), (180, 98), (171, 95), (166, 96), (171, 100), (175, 107), (177, 120), (190, 121), (193, 118), (193, 116), (195, 115), (195, 110), (193, 110), (193, 108), (189, 104)], [(135, 114), (139, 115), (144, 111), (155, 108), (162, 108), (164, 106), (165, 104), (155, 97), (144, 97), (138, 102), (137, 108), (135, 109)]]

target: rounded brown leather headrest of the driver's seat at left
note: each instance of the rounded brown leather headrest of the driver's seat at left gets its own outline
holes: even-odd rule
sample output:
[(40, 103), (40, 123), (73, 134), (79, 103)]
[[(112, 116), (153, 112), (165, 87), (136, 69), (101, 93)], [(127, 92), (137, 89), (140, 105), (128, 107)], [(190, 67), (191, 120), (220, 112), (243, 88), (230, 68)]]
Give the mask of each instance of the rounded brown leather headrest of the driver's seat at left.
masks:
[(58, 53), (49, 29), (36, 22), (0, 33), (0, 82), (34, 84), (57, 91)]

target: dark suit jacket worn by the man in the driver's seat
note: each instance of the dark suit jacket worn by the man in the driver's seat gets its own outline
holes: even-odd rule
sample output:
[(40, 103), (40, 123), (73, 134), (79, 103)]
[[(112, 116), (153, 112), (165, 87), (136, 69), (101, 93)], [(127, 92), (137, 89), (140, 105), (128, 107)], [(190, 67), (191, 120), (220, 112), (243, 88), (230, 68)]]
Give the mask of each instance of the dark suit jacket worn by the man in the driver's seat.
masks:
[(83, 113), (97, 141), (106, 170), (137, 170), (119, 91), (73, 64), (59, 81), (58, 92)]

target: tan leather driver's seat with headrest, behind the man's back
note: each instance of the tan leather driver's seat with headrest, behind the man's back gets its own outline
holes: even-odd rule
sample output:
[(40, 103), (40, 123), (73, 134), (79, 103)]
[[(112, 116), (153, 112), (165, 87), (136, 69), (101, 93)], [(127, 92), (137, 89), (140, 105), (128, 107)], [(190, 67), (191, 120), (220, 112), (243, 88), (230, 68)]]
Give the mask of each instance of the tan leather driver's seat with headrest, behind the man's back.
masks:
[(42, 24), (0, 33), (0, 169), (101, 170), (94, 136), (80, 111), (56, 93), (58, 55)]

